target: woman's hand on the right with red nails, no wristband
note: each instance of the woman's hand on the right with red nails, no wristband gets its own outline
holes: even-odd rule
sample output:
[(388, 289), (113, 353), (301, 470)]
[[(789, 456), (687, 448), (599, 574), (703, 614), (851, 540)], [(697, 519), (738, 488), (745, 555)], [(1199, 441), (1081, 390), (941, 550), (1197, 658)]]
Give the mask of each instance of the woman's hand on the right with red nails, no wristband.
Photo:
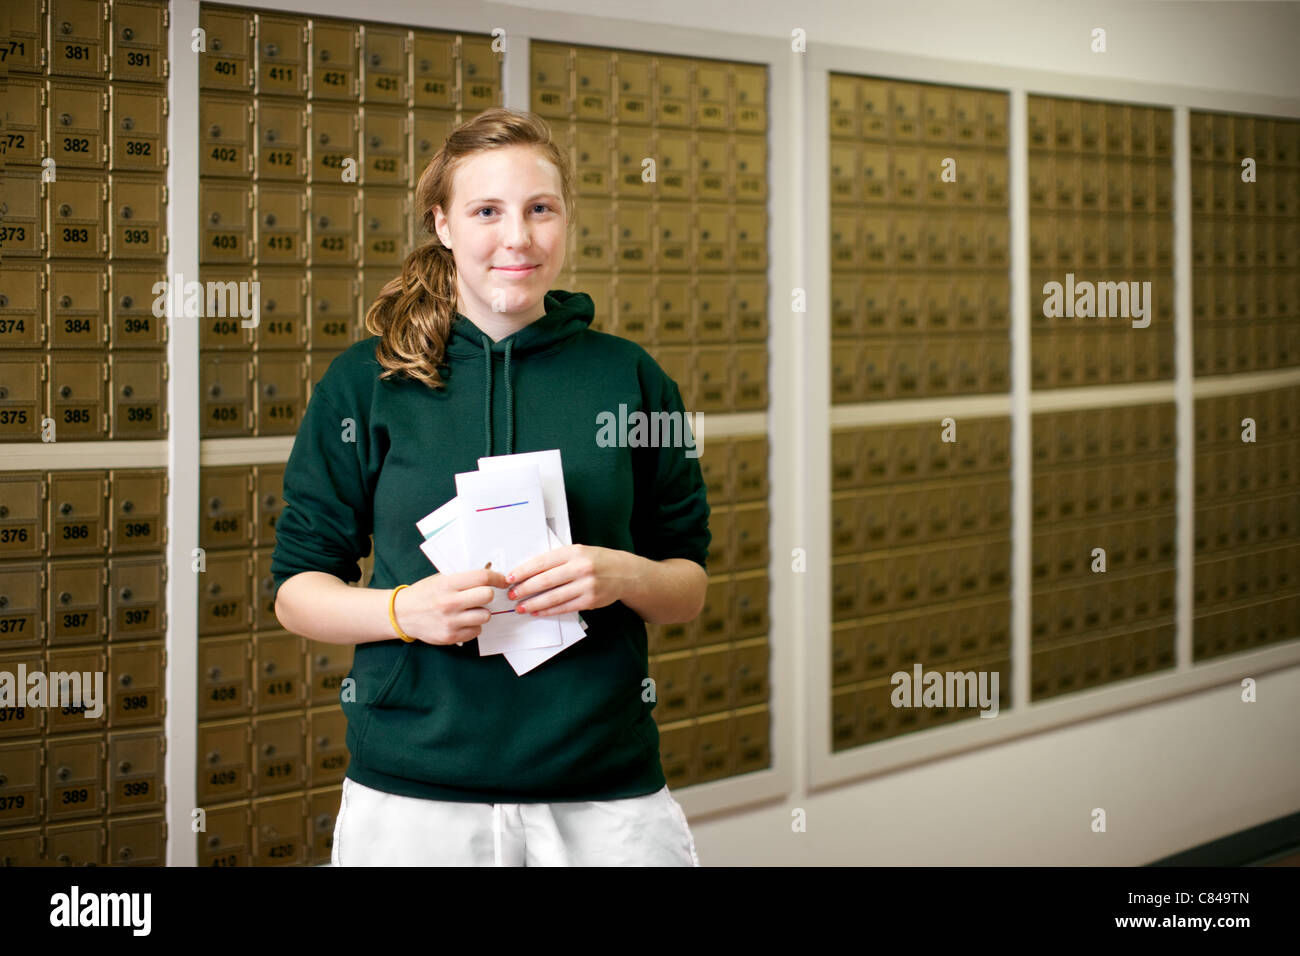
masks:
[[(551, 617), (604, 607), (625, 593), (634, 554), (612, 548), (564, 545), (529, 558), (506, 575), (516, 613)], [(546, 592), (546, 593), (542, 593)]]

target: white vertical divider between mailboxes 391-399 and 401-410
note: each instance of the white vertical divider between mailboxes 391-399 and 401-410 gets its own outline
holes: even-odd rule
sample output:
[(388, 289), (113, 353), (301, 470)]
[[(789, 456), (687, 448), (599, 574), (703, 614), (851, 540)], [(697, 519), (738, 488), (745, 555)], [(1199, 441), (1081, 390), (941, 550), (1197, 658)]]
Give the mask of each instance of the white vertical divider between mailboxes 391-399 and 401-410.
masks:
[[(190, 49), (199, 26), (198, 3), (173, 3), (168, 31), (166, 232), (168, 280), (199, 278), (199, 55)], [(170, 310), (170, 300), (168, 302)], [(199, 576), (191, 551), (199, 546), (199, 325), (168, 315), (168, 545), (166, 545), (166, 865), (198, 862), (191, 813), (198, 808)], [(109, 861), (112, 862), (112, 861)]]

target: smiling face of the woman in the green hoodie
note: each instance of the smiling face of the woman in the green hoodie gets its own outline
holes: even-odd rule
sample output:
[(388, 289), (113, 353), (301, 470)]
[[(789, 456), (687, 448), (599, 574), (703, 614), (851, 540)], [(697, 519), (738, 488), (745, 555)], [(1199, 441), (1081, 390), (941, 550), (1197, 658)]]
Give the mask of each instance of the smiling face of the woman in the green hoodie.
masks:
[(460, 311), (533, 320), (564, 265), (560, 173), (537, 150), (510, 146), (464, 160), (434, 228), (456, 259)]

